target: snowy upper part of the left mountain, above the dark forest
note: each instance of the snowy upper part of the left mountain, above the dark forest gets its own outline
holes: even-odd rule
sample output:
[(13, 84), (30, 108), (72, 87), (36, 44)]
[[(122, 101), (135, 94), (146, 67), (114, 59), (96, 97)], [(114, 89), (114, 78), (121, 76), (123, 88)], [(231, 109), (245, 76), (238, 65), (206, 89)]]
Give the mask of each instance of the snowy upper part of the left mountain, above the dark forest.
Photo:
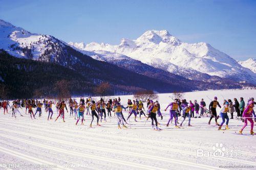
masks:
[(56, 51), (64, 43), (50, 35), (30, 33), (23, 28), (15, 27), (11, 23), (0, 19), (0, 48), (15, 57), (52, 60), (54, 56), (49, 51)]

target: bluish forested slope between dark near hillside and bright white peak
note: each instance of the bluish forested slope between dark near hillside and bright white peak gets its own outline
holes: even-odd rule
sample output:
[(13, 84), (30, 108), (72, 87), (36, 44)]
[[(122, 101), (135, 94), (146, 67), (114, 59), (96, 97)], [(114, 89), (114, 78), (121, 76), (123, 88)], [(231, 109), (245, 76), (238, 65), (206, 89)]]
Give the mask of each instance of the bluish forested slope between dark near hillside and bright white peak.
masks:
[[(77, 49), (76, 47), (74, 48)], [(180, 86), (183, 86), (183, 85), (193, 86), (193, 87), (197, 87), (200, 90), (209, 89), (209, 88), (223, 89), (223, 88), (240, 88), (241, 87), (238, 83), (230, 79), (223, 79), (217, 76), (209, 76), (207, 74), (202, 74), (200, 72), (199, 73), (195, 72), (195, 74), (193, 75), (195, 78), (194, 80), (185, 79), (184, 77), (172, 74), (171, 72), (164, 71), (159, 68), (155, 68), (153, 66), (144, 64), (138, 60), (134, 60), (130, 57), (127, 57), (118, 53), (112, 53), (112, 52), (106, 52), (106, 51), (93, 51), (93, 52), (88, 52), (83, 50), (79, 50), (79, 51), (83, 54), (87, 54), (91, 56), (96, 60), (113, 63), (119, 67), (126, 68), (134, 72), (138, 72), (139, 74), (160, 79), (161, 81), (177, 84)], [(200, 80), (200, 81), (195, 81), (195, 80)]]

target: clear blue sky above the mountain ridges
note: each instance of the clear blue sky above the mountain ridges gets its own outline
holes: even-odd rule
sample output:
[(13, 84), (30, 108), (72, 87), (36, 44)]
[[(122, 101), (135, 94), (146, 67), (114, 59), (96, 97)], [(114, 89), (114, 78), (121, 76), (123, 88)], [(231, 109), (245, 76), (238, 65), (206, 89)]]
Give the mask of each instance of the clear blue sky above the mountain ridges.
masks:
[(66, 42), (119, 44), (147, 30), (208, 42), (234, 59), (256, 58), (256, 1), (8, 1), (0, 18)]

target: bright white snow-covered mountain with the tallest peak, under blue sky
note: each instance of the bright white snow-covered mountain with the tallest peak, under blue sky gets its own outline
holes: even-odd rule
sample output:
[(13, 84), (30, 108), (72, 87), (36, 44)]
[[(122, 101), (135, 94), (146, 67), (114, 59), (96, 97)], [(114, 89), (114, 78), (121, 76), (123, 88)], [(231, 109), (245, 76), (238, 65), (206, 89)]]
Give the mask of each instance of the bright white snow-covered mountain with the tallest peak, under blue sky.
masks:
[[(199, 71), (212, 76), (256, 82), (256, 74), (205, 42), (185, 43), (166, 30), (146, 31), (136, 40), (123, 38), (119, 45), (70, 43), (84, 51), (119, 53), (174, 74)], [(189, 75), (190, 72), (188, 71)]]

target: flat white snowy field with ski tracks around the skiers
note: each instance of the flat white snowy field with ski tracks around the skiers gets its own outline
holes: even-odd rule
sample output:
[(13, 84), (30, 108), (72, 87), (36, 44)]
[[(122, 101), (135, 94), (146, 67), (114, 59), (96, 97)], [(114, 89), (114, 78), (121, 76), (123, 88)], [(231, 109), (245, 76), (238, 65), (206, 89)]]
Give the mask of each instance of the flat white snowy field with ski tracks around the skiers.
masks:
[[(184, 98), (198, 102), (204, 98), (208, 106), (207, 96), (210, 99), (218, 96), (220, 103), (222, 96), (232, 101), (243, 96), (247, 103), (255, 94), (256, 90), (198, 91), (185, 93)], [(169, 116), (163, 109), (172, 102), (170, 95), (159, 94), (164, 116), (163, 120), (159, 118), (162, 131), (151, 130), (151, 122), (145, 124), (144, 116), (134, 122), (132, 115), (131, 126), (120, 130), (115, 117), (108, 117), (101, 127), (96, 126), (94, 120), (93, 127), (89, 128), (89, 115), (85, 116), (84, 125), (79, 122), (75, 126), (74, 117), (67, 113), (63, 123), (61, 119), (48, 122), (44, 111), (41, 118), (37, 114), (37, 119), (31, 120), (28, 114), (17, 115), (15, 119), (0, 109), (0, 169), (4, 169), (4, 163), (14, 163), (11, 165), (19, 166), (16, 169), (29, 164), (57, 165), (55, 169), (219, 169), (222, 165), (256, 169), (256, 140), (249, 135), (249, 126), (244, 129), (244, 135), (239, 135), (243, 123), (230, 119), (230, 129), (218, 131), (214, 119), (212, 125), (208, 125), (209, 117), (203, 117), (191, 118), (192, 127), (188, 127), (186, 121), (181, 129), (174, 125), (165, 127)], [(120, 98), (125, 105), (126, 99), (133, 96)], [(57, 113), (53, 108), (55, 119)], [(127, 112), (124, 115), (127, 118)]]

